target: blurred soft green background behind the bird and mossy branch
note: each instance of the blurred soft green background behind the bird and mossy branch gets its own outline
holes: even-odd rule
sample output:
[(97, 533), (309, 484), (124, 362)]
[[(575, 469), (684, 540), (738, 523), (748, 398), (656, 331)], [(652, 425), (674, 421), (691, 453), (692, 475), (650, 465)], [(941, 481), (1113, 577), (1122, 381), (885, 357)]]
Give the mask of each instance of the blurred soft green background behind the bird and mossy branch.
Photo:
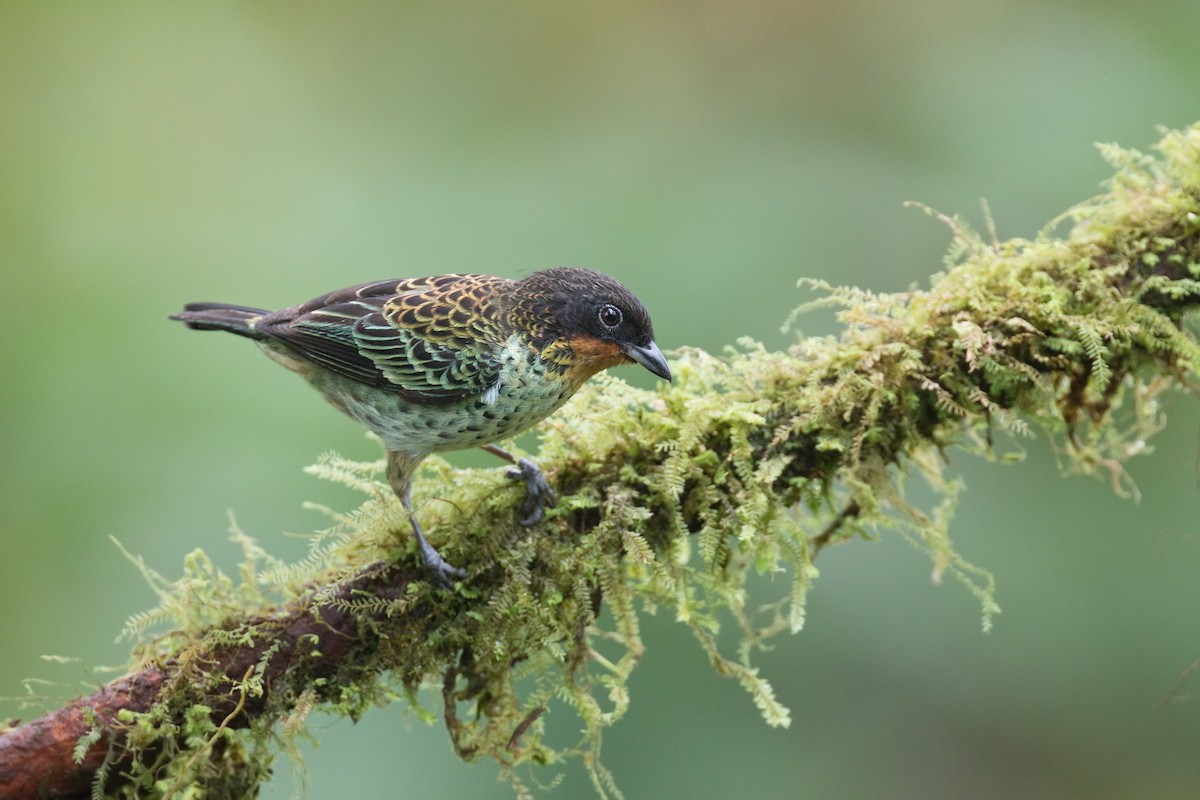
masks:
[[(155, 597), (108, 536), (175, 577), (196, 547), (235, 563), (227, 509), (294, 557), (325, 524), (302, 500), (355, 501), (300, 470), (374, 445), (167, 321), (185, 301), (574, 264), (665, 348), (785, 347), (798, 277), (938, 269), (946, 229), (904, 200), (978, 222), (985, 197), (1032, 236), (1109, 174), (1092, 143), (1200, 119), (1198, 32), (1194, 0), (0, 4), (0, 694), (94, 682), (40, 654), (124, 660)], [(1153, 710), (1200, 657), (1200, 420), (1168, 411), (1140, 505), (1060, 477), (1045, 435), (1019, 467), (954, 456), (989, 634), (896, 536), (823, 554), (808, 630), (761, 658), (787, 730), (648, 620), (605, 739), (628, 796), (1200, 796), (1200, 703)], [(314, 734), (313, 798), (511, 796), (400, 706)], [(582, 770), (552, 796), (590, 796)]]

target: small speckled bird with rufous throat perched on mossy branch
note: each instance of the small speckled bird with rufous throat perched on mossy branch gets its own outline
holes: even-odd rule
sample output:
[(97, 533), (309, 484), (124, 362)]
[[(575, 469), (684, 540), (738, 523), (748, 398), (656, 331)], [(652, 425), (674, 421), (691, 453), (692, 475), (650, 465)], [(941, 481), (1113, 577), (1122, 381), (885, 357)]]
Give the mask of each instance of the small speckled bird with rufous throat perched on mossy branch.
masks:
[(618, 363), (640, 363), (671, 380), (646, 307), (613, 278), (583, 269), (556, 267), (521, 281), (379, 281), (275, 312), (196, 302), (172, 319), (257, 341), (374, 432), (421, 560), (442, 585), (466, 572), (426, 541), (413, 513), (421, 459), (482, 446), (514, 462), (509, 475), (528, 487), (521, 523), (532, 525), (544, 505), (554, 505), (554, 493), (536, 464), (492, 443), (528, 429)]

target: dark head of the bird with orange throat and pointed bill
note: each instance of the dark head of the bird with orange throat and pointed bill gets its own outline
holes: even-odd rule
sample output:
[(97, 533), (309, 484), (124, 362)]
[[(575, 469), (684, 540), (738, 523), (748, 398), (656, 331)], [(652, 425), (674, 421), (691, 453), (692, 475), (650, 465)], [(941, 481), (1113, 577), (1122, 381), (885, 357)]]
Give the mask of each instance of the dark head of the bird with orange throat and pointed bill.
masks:
[(642, 301), (602, 272), (554, 267), (517, 282), (510, 319), (544, 359), (581, 379), (640, 363), (671, 380)]

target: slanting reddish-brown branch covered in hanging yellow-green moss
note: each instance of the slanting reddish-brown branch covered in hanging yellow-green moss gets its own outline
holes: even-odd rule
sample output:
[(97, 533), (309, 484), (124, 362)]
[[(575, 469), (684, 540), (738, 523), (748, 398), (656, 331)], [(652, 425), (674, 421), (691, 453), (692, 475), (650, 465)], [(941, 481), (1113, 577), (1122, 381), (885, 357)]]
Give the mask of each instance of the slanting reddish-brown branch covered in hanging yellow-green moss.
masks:
[[(629, 703), (641, 609), (672, 607), (766, 721), (787, 724), (752, 655), (802, 627), (822, 548), (881, 528), (967, 585), (989, 625), (991, 578), (948, 535), (946, 449), (995, 455), (997, 433), (1038, 427), (1127, 491), (1123, 459), (1162, 426), (1156, 396), (1200, 368), (1184, 330), (1200, 303), (1200, 127), (1158, 149), (1104, 148), (1116, 174), (1056, 221), (1072, 223), (1066, 237), (986, 242), (946, 219), (954, 247), (929, 290), (818, 285), (841, 307), (838, 338), (682, 350), (676, 384), (656, 391), (593, 381), (542, 428), (562, 501), (536, 529), (514, 524), (520, 488), (497, 470), (433, 461), (438, 480), (415, 494), (439, 549), (469, 570), (456, 591), (422, 581), (379, 465), (326, 457), (314, 471), (367, 501), (334, 515), (299, 565), (236, 531), (238, 579), (199, 552), (176, 582), (142, 565), (162, 604), (130, 622), (142, 640), (128, 674), (0, 734), (0, 796), (245, 796), (313, 708), (358, 716), (402, 696), (427, 714), (418, 690), (431, 685), (458, 753), (493, 758), (518, 794), (518, 765), (575, 756), (617, 795), (600, 734)], [(932, 509), (906, 501), (913, 471), (941, 493)], [(754, 572), (785, 575), (786, 590), (750, 607)], [(172, 630), (146, 638), (163, 620)], [(726, 654), (731, 621), (742, 644)], [(542, 741), (553, 703), (584, 723), (572, 748)]]

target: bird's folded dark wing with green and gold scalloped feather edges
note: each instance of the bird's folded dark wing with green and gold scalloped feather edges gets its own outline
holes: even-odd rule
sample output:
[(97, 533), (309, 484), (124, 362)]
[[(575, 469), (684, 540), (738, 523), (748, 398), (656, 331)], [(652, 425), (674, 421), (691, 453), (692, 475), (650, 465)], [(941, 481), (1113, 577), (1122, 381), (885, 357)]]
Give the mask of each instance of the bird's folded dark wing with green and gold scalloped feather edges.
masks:
[(254, 329), (353, 380), (448, 403), (496, 386), (496, 299), (509, 288), (484, 275), (365, 283), (269, 314)]

